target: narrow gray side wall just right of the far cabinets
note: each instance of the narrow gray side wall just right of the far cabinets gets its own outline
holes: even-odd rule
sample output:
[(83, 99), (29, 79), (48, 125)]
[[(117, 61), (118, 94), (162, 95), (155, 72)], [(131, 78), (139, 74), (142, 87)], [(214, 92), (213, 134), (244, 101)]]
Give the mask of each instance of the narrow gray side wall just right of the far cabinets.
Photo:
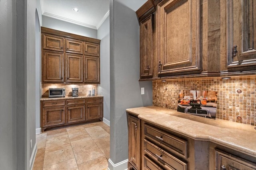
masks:
[[(110, 37), (109, 37), (109, 16), (98, 29), (100, 39), (100, 85), (98, 94), (104, 96), (103, 112), (104, 119), (110, 121)], [(103, 121), (106, 121), (103, 120)]]

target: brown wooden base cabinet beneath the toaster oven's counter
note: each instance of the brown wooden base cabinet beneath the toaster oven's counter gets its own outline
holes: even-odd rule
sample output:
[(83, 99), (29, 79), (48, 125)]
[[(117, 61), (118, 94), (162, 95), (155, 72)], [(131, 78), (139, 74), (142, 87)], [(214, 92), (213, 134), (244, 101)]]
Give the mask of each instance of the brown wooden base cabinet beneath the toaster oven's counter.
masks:
[(103, 97), (41, 101), (41, 129), (103, 119)]

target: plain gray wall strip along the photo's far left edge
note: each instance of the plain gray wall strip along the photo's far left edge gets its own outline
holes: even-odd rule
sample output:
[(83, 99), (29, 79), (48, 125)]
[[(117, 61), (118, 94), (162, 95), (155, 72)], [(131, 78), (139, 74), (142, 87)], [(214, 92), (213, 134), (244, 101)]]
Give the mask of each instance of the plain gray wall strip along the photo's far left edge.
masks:
[(0, 1), (0, 169), (16, 169), (16, 1)]

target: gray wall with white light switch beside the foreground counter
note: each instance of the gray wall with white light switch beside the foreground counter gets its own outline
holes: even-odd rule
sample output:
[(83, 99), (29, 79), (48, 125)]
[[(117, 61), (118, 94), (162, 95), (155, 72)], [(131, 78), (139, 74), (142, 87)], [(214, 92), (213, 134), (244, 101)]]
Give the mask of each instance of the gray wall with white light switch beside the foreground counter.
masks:
[[(136, 13), (119, 0), (110, 0), (110, 160), (114, 164), (128, 159), (126, 109), (152, 105), (152, 83), (138, 82), (139, 37)], [(140, 86), (146, 95), (140, 94)]]

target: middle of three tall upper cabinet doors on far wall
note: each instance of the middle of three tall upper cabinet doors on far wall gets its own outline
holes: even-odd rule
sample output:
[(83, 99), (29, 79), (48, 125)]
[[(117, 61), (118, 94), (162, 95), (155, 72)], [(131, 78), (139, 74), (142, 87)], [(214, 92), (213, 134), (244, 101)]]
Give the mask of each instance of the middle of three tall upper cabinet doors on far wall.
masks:
[(66, 82), (83, 82), (83, 56), (66, 53)]

